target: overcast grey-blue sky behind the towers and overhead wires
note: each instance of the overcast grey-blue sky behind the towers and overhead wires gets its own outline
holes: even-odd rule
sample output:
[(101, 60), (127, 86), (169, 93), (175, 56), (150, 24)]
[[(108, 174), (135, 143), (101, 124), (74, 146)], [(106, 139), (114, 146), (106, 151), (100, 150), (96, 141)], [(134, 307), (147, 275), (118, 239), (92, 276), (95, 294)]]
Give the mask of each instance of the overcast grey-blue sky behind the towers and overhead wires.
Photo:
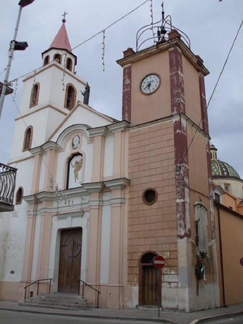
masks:
[[(1, 1), (0, 81), (3, 82), (9, 42), (13, 38), (19, 0)], [(71, 47), (106, 29), (117, 19), (145, 0), (35, 0), (22, 10), (17, 41), (28, 41), (25, 51), (15, 52), (9, 80), (18, 78), (16, 104), (19, 106), (21, 75), (41, 66), (41, 52), (49, 48), (62, 24), (64, 11)], [(161, 17), (161, 0), (153, 0), (153, 20)], [(122, 68), (116, 60), (127, 47), (135, 50), (136, 32), (151, 23), (151, 1), (147, 1), (105, 31), (105, 71), (102, 65), (102, 33), (77, 47), (77, 75), (91, 86), (89, 105), (121, 119)], [(207, 100), (242, 21), (243, 0), (164, 0), (166, 15), (172, 24), (185, 32), (191, 50), (199, 54), (210, 71), (205, 78)], [(211, 143), (218, 149), (218, 159), (232, 165), (243, 178), (243, 27), (229, 56), (225, 70), (208, 109)], [(147, 44), (147, 45), (152, 45)], [(3, 72), (3, 73), (2, 73)], [(15, 88), (16, 83), (13, 84)], [(60, 86), (61, 83), (60, 83)], [(4, 102), (0, 120), (0, 161), (10, 156), (17, 108), (11, 96)]]

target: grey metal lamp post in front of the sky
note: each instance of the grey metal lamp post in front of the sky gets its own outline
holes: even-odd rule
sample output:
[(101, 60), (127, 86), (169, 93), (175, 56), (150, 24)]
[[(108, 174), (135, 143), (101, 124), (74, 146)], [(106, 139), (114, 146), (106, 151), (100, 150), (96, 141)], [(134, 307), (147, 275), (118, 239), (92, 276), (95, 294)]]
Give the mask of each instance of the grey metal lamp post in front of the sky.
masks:
[(16, 21), (16, 27), (15, 27), (15, 30), (14, 30), (14, 37), (13, 37), (12, 44), (11, 44), (10, 51), (9, 51), (8, 64), (7, 64), (7, 67), (6, 67), (6, 73), (5, 73), (2, 93), (1, 93), (1, 97), (0, 97), (0, 119), (1, 119), (1, 114), (2, 114), (2, 110), (3, 110), (3, 103), (4, 103), (5, 94), (6, 94), (6, 89), (8, 87), (8, 76), (9, 76), (11, 62), (12, 62), (13, 55), (14, 55), (15, 41), (16, 41), (16, 37), (17, 37), (18, 25), (19, 25), (19, 21), (20, 21), (22, 8), (23, 7), (20, 5), (19, 10), (18, 10), (18, 17), (17, 17), (17, 21)]

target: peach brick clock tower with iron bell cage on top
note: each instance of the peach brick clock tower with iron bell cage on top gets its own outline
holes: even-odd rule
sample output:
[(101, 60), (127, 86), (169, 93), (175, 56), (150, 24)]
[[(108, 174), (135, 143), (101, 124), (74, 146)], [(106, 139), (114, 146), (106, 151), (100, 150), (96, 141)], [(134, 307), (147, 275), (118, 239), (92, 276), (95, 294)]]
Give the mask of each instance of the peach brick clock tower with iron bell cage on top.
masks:
[[(151, 29), (153, 37), (146, 39)], [(154, 45), (142, 48), (151, 40)], [(130, 122), (128, 286), (133, 304), (156, 305), (157, 295), (147, 298), (145, 281), (151, 280), (152, 286), (150, 255), (162, 255), (166, 260), (161, 275), (162, 308), (216, 307), (204, 88), (209, 72), (191, 51), (188, 37), (172, 28), (171, 17), (165, 17), (164, 11), (159, 25), (139, 30), (136, 51), (128, 48), (123, 54), (117, 63), (123, 68), (122, 118)], [(198, 260), (206, 269), (205, 282), (195, 276)]]

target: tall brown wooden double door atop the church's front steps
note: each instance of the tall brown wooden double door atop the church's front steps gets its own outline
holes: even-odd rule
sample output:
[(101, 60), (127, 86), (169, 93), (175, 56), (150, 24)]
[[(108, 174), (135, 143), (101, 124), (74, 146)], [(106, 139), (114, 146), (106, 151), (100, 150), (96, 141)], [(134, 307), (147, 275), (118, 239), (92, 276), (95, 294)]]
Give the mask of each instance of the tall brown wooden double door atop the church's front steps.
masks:
[(81, 271), (82, 228), (61, 231), (58, 292), (78, 294)]

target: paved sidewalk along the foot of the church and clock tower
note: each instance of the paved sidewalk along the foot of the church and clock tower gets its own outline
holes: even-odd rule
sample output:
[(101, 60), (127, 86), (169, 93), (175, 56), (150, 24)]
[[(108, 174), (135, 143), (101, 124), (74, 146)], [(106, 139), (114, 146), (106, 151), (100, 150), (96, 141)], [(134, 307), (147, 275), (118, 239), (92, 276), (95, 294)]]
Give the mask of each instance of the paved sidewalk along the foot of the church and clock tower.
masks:
[(77, 311), (63, 311), (56, 309), (23, 307), (18, 306), (14, 302), (0, 301), (0, 310), (12, 310), (17, 312), (45, 313), (52, 315), (75, 316), (86, 318), (103, 318), (118, 319), (132, 321), (150, 321), (152, 323), (175, 323), (175, 324), (196, 324), (203, 323), (208, 320), (231, 317), (234, 314), (243, 314), (243, 304), (230, 305), (228, 307), (214, 308), (208, 310), (200, 310), (193, 313), (160, 311), (158, 318), (158, 310), (139, 310), (139, 309), (90, 309)]

